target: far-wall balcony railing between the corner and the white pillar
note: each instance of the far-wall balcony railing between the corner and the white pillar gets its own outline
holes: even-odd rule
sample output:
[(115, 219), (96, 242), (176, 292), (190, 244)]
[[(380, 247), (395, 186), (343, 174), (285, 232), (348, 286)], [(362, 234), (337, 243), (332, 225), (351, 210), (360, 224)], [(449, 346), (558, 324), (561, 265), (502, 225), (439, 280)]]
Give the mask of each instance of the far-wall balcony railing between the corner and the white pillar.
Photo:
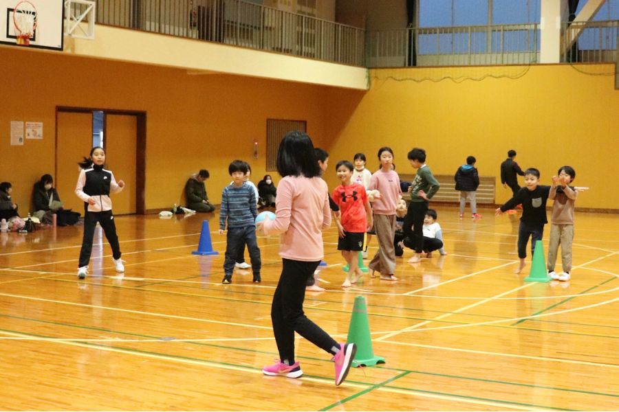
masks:
[(539, 25), (409, 27), (367, 32), (368, 67), (513, 65), (539, 61)]

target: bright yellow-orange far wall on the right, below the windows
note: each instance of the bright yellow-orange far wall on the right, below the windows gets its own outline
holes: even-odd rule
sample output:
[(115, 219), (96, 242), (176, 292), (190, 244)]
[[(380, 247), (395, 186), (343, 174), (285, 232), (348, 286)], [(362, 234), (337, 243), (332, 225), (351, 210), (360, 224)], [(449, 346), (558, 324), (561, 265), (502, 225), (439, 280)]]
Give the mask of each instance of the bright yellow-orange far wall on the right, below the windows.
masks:
[[(330, 159), (365, 152), (373, 171), (378, 148), (391, 146), (398, 172), (413, 174), (406, 153), (421, 147), (435, 174), (454, 174), (474, 155), (481, 175), (497, 176), (502, 203), (511, 192), (500, 186), (499, 165), (514, 149), (523, 170), (541, 170), (543, 184), (561, 165), (572, 165), (574, 184), (591, 187), (577, 207), (619, 209), (611, 183), (619, 176), (619, 91), (607, 76), (613, 71), (613, 65), (372, 70), (365, 95), (329, 91)], [(338, 118), (346, 100), (359, 102)], [(336, 184), (334, 170), (327, 181)]]

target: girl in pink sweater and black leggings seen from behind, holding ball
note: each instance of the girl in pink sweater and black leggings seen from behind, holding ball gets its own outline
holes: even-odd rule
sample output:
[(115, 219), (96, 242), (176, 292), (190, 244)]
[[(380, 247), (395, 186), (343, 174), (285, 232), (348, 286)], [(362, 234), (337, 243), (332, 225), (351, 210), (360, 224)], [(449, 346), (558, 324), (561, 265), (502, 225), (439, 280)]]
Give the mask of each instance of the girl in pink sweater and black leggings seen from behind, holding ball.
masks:
[(301, 365), (294, 361), (294, 332), (334, 355), (335, 383), (346, 378), (357, 347), (337, 343), (303, 312), (305, 284), (323, 258), (323, 229), (331, 225), (327, 183), (314, 156), (312, 140), (303, 132), (290, 132), (279, 145), (277, 171), (283, 179), (277, 187), (275, 220), (256, 224), (258, 231), (281, 235), (282, 271), (273, 295), (271, 321), (279, 361), (265, 366), (269, 376), (299, 378)]

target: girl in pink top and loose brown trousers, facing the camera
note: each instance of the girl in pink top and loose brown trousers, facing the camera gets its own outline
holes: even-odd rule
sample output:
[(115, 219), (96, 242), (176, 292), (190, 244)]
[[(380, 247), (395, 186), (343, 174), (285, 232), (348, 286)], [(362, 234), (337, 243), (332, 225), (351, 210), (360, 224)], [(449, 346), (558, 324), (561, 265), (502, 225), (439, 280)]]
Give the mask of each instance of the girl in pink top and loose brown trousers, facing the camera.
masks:
[(378, 190), (380, 199), (372, 205), (374, 213), (374, 230), (378, 236), (380, 248), (374, 258), (367, 265), (372, 271), (380, 273), (380, 279), (397, 280), (395, 272), (395, 208), (398, 207), (398, 198), (402, 194), (400, 176), (391, 168), (393, 164), (393, 150), (380, 148), (378, 150), (380, 170), (372, 174), (368, 190)]

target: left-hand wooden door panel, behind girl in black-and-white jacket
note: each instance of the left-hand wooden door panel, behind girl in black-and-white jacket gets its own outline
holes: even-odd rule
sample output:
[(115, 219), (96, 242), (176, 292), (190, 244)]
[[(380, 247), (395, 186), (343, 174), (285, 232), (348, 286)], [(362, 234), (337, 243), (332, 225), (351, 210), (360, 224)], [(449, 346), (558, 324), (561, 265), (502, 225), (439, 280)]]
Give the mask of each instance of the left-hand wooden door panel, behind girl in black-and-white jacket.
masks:
[(84, 214), (84, 202), (75, 194), (78, 161), (92, 148), (92, 113), (58, 112), (56, 117), (56, 176), (54, 184), (65, 209)]

